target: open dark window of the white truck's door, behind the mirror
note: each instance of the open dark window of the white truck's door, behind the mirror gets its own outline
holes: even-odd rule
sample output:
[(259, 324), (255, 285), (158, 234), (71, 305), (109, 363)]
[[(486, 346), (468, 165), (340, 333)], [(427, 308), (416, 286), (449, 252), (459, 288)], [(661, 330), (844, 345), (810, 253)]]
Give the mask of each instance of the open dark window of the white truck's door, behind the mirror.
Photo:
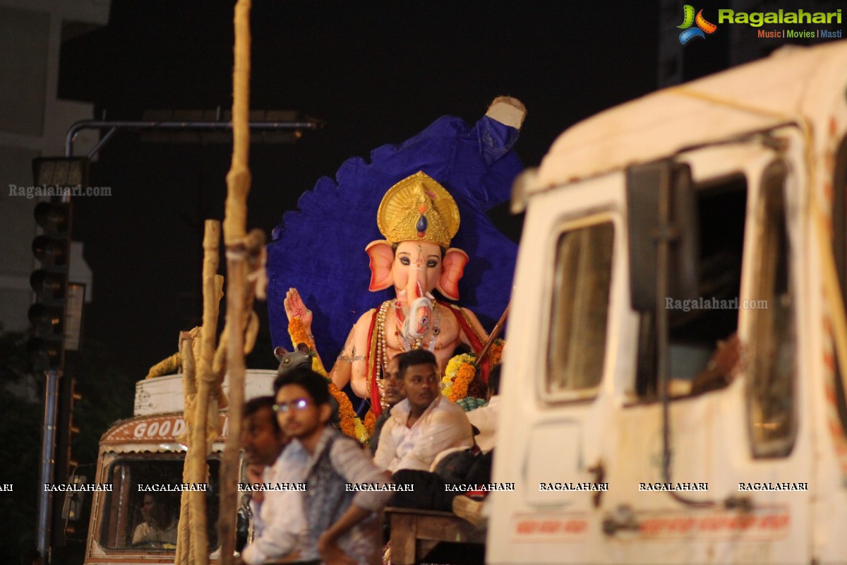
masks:
[[(668, 310), (668, 392), (672, 398), (687, 396), (695, 381), (701, 382), (717, 341), (727, 340), (738, 329), (747, 181), (743, 175), (733, 175), (700, 183), (696, 191), (699, 296), (696, 300), (667, 296), (663, 305)], [(654, 313), (641, 314), (635, 391), (645, 401), (658, 398), (655, 319)], [(706, 390), (722, 385), (711, 383)]]

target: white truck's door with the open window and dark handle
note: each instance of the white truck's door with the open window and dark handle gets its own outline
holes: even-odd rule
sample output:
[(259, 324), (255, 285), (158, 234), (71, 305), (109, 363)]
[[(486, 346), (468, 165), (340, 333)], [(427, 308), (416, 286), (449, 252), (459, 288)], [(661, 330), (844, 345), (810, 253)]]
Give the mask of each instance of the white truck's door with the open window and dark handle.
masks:
[[(810, 558), (814, 457), (811, 434), (800, 434), (808, 389), (799, 383), (801, 368), (811, 373), (811, 335), (798, 329), (812, 304), (803, 291), (810, 269), (799, 140), (785, 128), (675, 159), (689, 167), (697, 197), (699, 296), (667, 296), (662, 305), (667, 449), (656, 314), (634, 314), (636, 374), (616, 384), (606, 562)], [(628, 268), (639, 269), (637, 258)], [(727, 363), (733, 343), (737, 361)]]

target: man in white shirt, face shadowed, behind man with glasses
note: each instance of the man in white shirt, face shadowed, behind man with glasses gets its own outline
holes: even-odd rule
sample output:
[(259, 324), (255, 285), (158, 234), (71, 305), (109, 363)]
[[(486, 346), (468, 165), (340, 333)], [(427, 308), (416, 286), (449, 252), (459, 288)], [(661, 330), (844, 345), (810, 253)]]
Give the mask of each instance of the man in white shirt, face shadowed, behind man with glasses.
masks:
[[(277, 423), (273, 396), (260, 396), (246, 403), (242, 429), (241, 446), (250, 483), (302, 482), (304, 461), (283, 457), (289, 439)], [(267, 560), (296, 556), (306, 533), (301, 493), (260, 490), (253, 493), (250, 506), (255, 536), (241, 553), (241, 559), (248, 565), (259, 565)]]

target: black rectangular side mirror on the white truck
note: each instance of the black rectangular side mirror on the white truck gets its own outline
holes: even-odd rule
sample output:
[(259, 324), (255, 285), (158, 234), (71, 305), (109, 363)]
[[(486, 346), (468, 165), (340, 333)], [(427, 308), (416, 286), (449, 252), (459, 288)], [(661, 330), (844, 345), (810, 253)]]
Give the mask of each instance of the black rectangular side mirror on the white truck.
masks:
[[(667, 195), (667, 202), (662, 202)], [(660, 206), (667, 206), (661, 224)], [(694, 299), (699, 295), (700, 231), (697, 197), (687, 164), (672, 160), (634, 165), (627, 169), (629, 291), (632, 307), (655, 312), (657, 241), (667, 237), (667, 297)], [(664, 300), (665, 297), (660, 297)]]

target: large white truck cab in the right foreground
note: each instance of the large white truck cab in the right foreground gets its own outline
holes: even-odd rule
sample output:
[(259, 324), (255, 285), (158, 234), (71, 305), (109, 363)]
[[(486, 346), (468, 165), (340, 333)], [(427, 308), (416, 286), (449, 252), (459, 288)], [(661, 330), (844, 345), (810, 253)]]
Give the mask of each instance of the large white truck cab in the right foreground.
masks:
[(847, 42), (782, 47), (516, 181), (488, 562), (847, 562), (845, 92)]

